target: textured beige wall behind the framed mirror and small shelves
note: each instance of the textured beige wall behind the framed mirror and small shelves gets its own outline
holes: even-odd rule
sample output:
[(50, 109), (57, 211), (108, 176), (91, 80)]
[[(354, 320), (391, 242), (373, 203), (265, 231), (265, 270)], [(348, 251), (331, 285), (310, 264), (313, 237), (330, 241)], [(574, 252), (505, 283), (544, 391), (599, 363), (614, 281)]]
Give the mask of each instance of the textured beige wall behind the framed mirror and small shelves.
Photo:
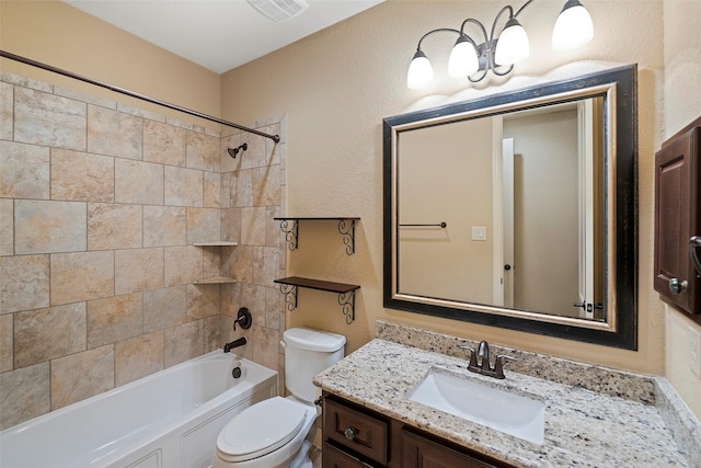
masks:
[[(467, 84), (445, 79), (425, 92), (407, 90), (405, 72), (416, 41), (428, 30), (459, 26), (472, 15), (491, 21), (494, 2), (388, 1), (338, 25), (226, 73), (222, 115), (243, 123), (287, 115), (287, 213), (291, 216), (355, 215), (356, 253), (346, 256), (333, 226), (303, 225), (300, 247), (289, 254), (289, 274), (361, 285), (356, 321), (346, 326), (336, 298), (301, 290), (288, 324), (308, 324), (348, 336), (348, 351), (375, 333), (377, 319), (426, 327), (471, 339), (552, 353), (620, 368), (664, 374), (664, 313), (653, 293), (653, 157), (663, 135), (663, 4), (660, 1), (587, 1), (595, 39), (572, 54), (551, 53), (549, 35), (560, 1), (535, 2), (522, 13), (531, 33), (531, 57), (512, 80), (541, 76), (574, 60), (637, 62), (640, 127), (639, 351), (498, 330), (382, 308), (382, 117), (402, 113), (429, 94), (455, 94)], [(634, 28), (625, 25), (635, 24)], [(452, 38), (426, 42), (436, 70)], [(440, 64), (437, 48), (446, 49)], [(439, 72), (438, 72), (439, 73)], [(438, 75), (437, 73), (437, 75)], [(481, 83), (479, 88), (494, 84)], [(421, 103), (420, 103), (421, 104)]]

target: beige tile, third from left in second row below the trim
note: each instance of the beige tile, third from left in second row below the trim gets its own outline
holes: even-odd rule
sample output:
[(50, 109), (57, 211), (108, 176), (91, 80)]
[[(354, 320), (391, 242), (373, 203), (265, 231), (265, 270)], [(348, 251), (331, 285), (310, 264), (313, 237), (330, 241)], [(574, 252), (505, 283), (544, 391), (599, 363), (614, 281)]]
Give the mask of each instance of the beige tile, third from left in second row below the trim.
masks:
[(142, 161), (115, 160), (115, 202), (163, 204), (163, 167)]

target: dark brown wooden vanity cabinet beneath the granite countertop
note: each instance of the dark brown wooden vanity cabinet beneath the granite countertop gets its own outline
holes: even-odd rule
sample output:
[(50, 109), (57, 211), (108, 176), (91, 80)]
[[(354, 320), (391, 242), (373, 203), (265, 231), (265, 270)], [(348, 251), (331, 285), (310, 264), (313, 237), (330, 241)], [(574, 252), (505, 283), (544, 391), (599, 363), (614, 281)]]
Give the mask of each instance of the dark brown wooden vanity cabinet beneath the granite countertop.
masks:
[(323, 392), (323, 468), (512, 467)]

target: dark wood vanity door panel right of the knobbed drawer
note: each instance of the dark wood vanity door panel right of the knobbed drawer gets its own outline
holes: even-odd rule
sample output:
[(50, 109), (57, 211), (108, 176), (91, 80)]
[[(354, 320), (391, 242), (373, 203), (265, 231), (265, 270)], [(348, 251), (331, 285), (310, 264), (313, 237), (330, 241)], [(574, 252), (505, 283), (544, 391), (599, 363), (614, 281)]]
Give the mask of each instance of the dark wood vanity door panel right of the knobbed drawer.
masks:
[(468, 454), (402, 430), (402, 468), (493, 468)]

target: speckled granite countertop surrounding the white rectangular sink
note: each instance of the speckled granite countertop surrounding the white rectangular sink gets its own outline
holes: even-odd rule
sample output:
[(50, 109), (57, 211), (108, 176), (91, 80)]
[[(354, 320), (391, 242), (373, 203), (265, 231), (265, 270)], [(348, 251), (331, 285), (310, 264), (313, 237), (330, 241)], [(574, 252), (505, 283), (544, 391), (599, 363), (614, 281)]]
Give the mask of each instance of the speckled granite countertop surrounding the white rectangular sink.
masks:
[[(506, 379), (498, 380), (470, 373), (467, 365), (462, 358), (376, 339), (318, 375), (314, 384), (349, 401), (518, 467), (700, 466), (701, 461), (696, 458), (699, 448), (675, 442), (660, 415), (662, 409), (654, 401), (645, 401), (645, 397), (623, 398), (508, 369), (505, 370)], [(409, 391), (432, 367), (542, 400), (545, 403), (543, 444), (530, 443), (411, 401)], [(664, 383), (662, 387), (666, 390)], [(654, 384), (650, 391), (653, 393), (646, 390), (642, 393), (655, 400)], [(691, 437), (698, 434), (692, 432)]]

